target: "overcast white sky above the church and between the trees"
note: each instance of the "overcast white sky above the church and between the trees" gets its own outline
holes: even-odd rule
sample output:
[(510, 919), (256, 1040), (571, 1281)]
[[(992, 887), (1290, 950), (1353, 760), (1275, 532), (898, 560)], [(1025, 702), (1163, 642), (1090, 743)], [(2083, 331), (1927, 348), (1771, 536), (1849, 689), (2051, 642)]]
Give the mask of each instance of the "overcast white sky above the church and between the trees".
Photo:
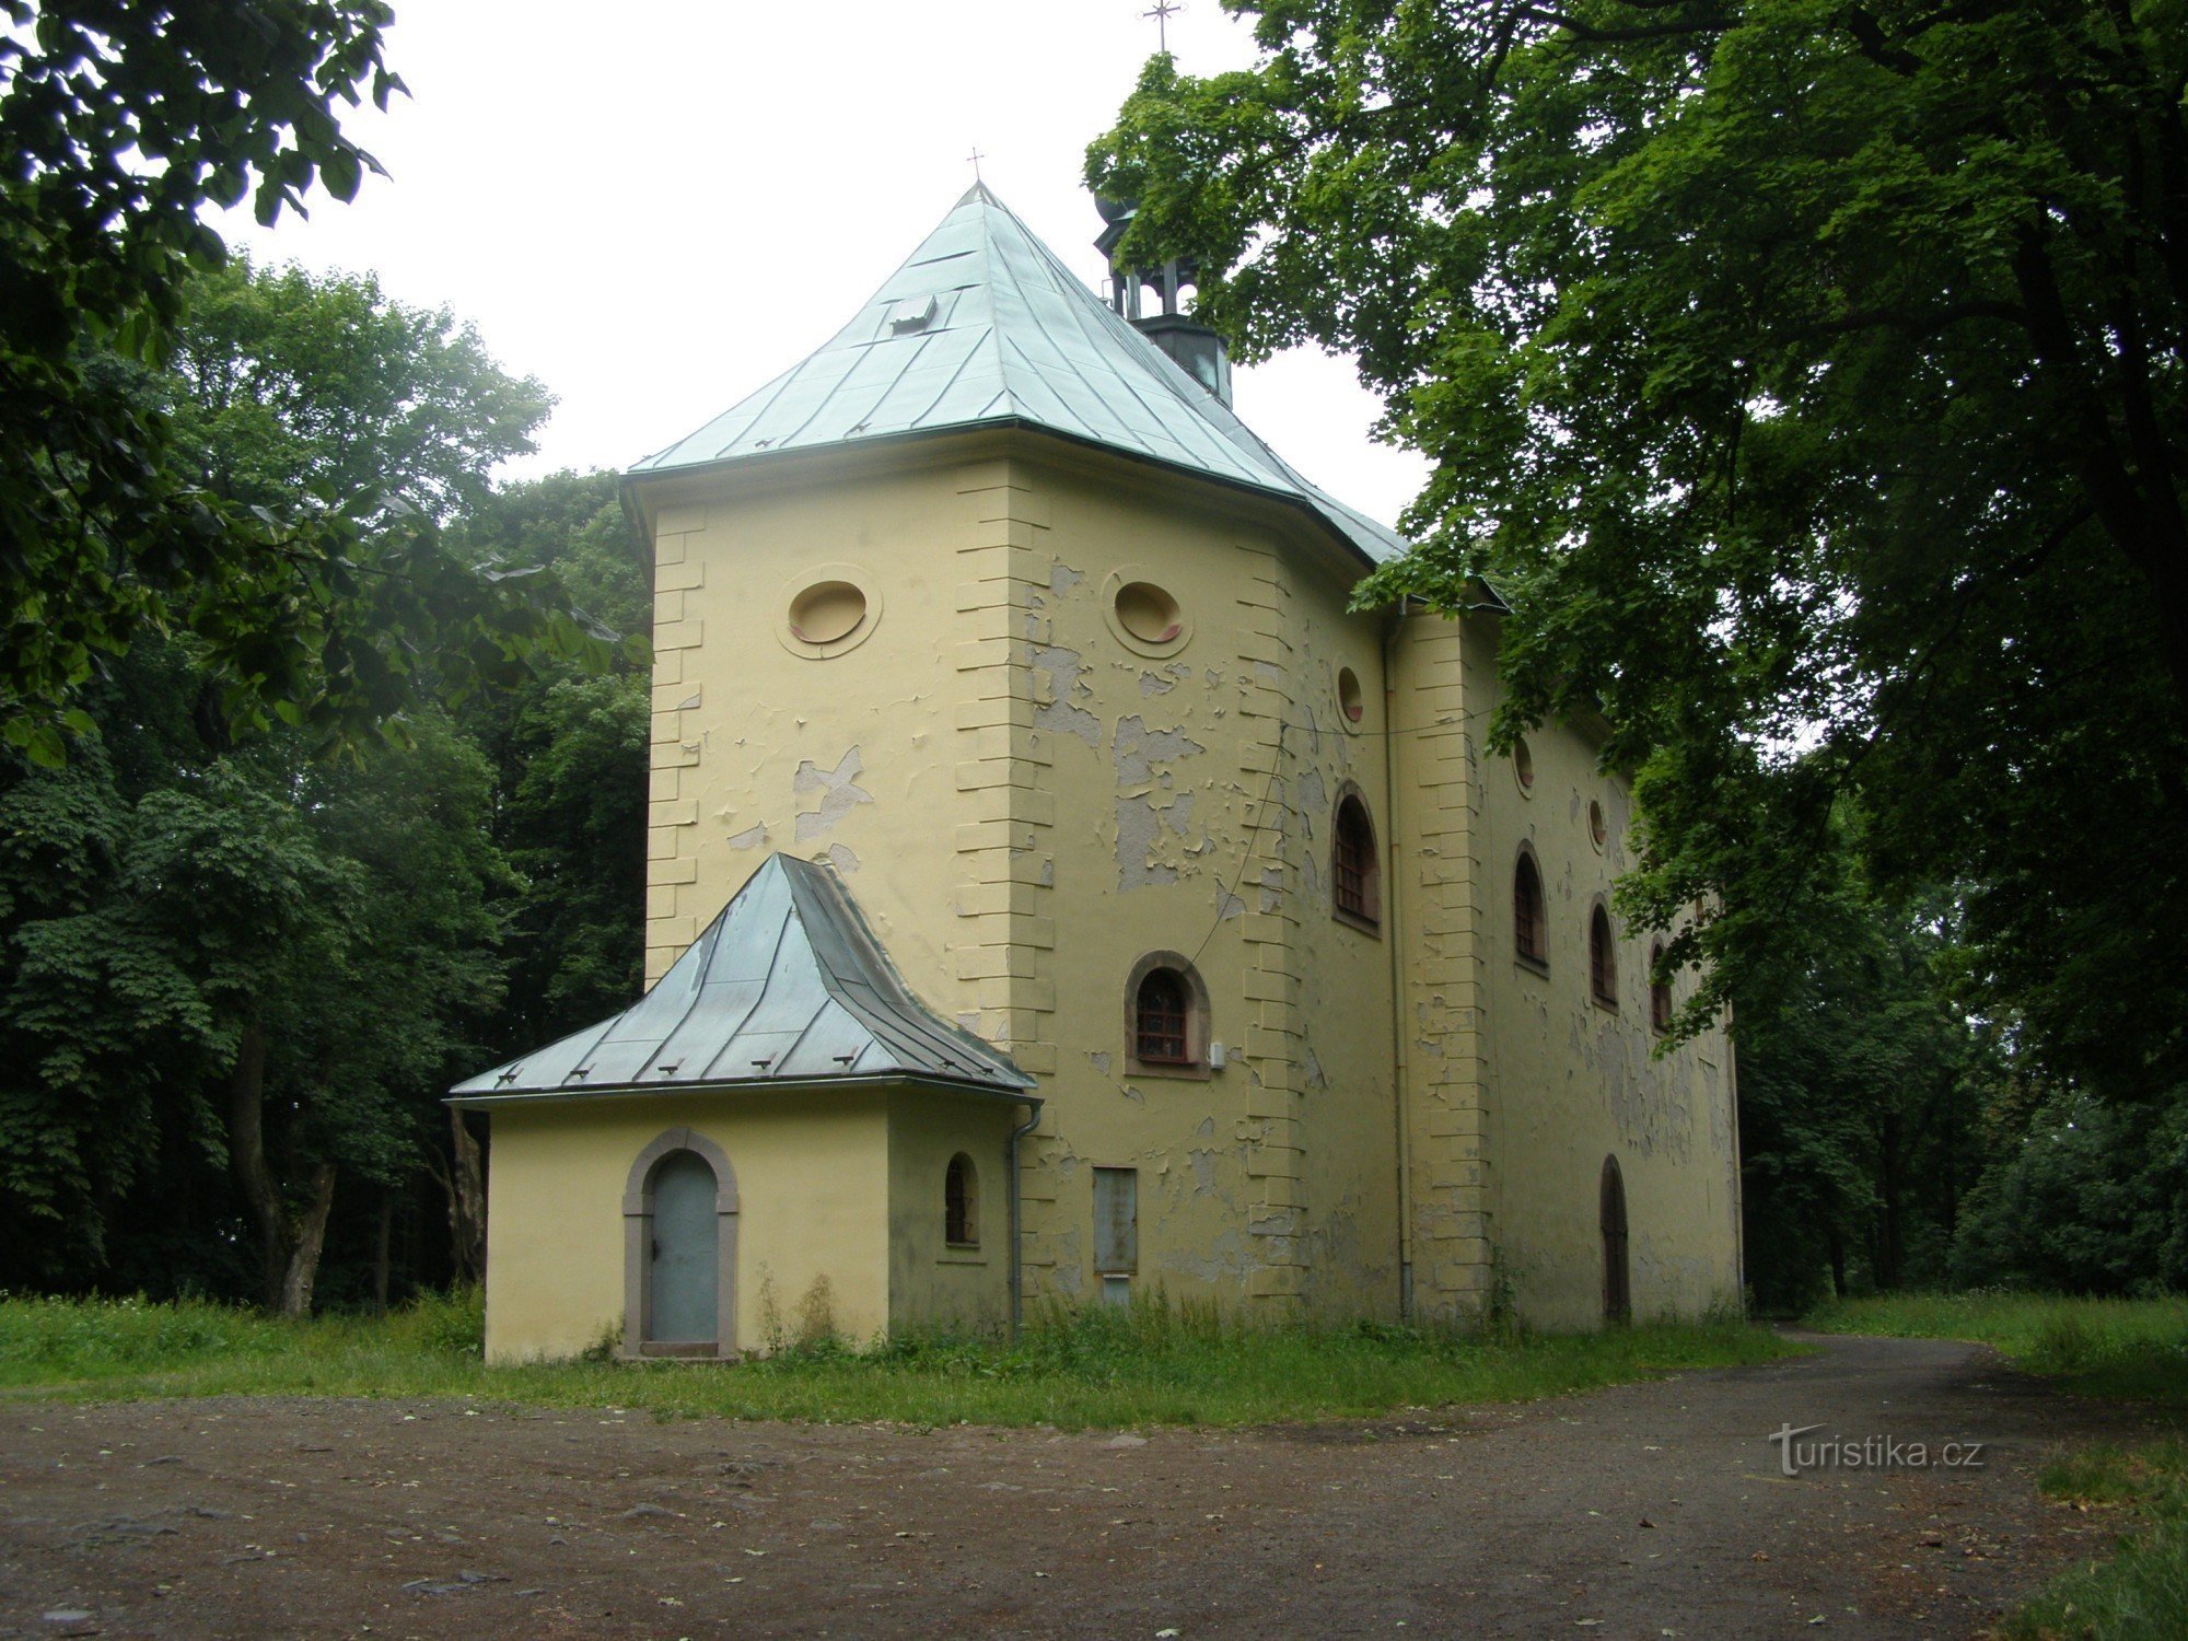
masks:
[[(560, 396), (521, 470), (621, 468), (827, 341), (971, 182), (1087, 282), (1101, 219), (1079, 186), (1144, 57), (1153, 0), (398, 0), (409, 83), (348, 131), (389, 177), (263, 234), (258, 260), (376, 271), (449, 306)], [(1252, 59), (1188, 0), (1190, 72)], [(1424, 477), (1376, 446), (1352, 368), (1293, 354), (1241, 372), (1238, 414), (1378, 519)]]

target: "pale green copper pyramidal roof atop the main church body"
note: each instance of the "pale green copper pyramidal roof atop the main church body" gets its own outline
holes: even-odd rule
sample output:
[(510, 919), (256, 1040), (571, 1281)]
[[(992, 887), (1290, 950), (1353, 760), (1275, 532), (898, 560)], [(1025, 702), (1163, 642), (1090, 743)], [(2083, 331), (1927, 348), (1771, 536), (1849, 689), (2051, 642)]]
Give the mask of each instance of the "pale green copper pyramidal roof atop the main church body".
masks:
[(1280, 497), (1372, 562), (1405, 551), (1112, 313), (982, 184), (834, 341), (628, 477), (974, 427), (1033, 427)]

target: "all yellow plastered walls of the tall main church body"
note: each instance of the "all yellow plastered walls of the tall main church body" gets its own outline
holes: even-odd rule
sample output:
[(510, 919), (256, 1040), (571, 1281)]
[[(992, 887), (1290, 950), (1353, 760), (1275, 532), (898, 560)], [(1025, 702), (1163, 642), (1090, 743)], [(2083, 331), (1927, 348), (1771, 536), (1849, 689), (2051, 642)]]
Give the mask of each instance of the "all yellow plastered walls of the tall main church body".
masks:
[[(1573, 897), (1621, 869), (1626, 796), (1573, 731), (1536, 737), (1532, 799), (1483, 766), (1490, 621), (1350, 613), (1359, 565), (1297, 512), (1022, 433), (661, 481), (650, 510), (648, 980), (768, 851), (831, 860), (912, 989), (1041, 1083), (1026, 1295), (1094, 1293), (1092, 1171), (1136, 1168), (1142, 1289), (1396, 1315), (1403, 1260), (1424, 1315), (1479, 1313), (1503, 1271), (1529, 1317), (1584, 1324), (1610, 1153), (1637, 1313), (1735, 1287), (1729, 1050), (1650, 1061), (1645, 950), (1619, 1015), (1588, 1004)], [(818, 578), (877, 610), (825, 654), (785, 639)], [(1177, 600), (1179, 641), (1120, 630), (1136, 578)], [(1348, 783), (1383, 847), (1378, 934), (1330, 917)], [(1582, 792), (1615, 812), (1606, 856)], [(1510, 961), (1521, 836), (1549, 987)], [(1127, 978), (1164, 950), (1197, 956), (1221, 1072), (1127, 1066)], [(932, 1162), (917, 1129), (899, 1166)], [(982, 1162), (982, 1195), (1000, 1175)], [(901, 1175), (893, 1199), (899, 1241), (932, 1230)], [(989, 1302), (980, 1267), (899, 1260), (895, 1319)]]

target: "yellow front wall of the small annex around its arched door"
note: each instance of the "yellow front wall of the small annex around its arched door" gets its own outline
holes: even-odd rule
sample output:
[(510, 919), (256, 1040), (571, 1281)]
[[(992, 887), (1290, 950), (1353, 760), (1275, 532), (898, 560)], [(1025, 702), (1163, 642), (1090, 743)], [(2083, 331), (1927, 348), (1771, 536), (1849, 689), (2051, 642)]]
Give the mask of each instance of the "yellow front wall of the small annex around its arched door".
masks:
[(888, 1094), (639, 1094), (492, 1114), (488, 1361), (573, 1357), (619, 1335), (630, 1168), (685, 1127), (737, 1175), (735, 1346), (794, 1337), (823, 1297), (845, 1337), (884, 1330)]

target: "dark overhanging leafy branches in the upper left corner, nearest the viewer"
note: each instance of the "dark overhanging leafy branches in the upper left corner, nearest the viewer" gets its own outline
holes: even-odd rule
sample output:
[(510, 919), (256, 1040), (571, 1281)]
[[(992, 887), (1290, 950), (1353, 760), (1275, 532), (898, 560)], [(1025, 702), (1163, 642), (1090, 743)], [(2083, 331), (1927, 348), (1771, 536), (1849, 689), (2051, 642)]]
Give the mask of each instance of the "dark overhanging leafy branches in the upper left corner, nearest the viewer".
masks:
[(206, 203), (263, 223), (372, 158), (337, 103), (400, 90), (383, 0), (0, 0), (0, 737), (44, 764), (105, 659), (193, 632), (241, 724), (357, 742), (433, 687), (505, 683), (540, 643), (604, 661), (547, 578), (444, 551), (376, 486), (236, 505), (177, 466), (168, 420), (112, 361), (158, 365)]

